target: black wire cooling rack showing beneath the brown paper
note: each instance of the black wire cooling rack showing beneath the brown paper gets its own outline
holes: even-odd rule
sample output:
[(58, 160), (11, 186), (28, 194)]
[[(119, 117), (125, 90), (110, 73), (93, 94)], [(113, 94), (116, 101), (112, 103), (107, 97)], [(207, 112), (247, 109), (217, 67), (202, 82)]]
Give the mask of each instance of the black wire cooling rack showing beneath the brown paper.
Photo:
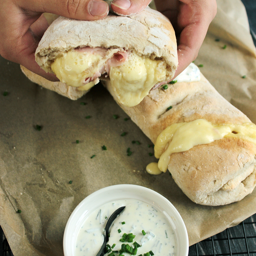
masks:
[[(190, 246), (188, 256), (256, 256), (256, 214)], [(0, 227), (0, 256), (13, 256)]]

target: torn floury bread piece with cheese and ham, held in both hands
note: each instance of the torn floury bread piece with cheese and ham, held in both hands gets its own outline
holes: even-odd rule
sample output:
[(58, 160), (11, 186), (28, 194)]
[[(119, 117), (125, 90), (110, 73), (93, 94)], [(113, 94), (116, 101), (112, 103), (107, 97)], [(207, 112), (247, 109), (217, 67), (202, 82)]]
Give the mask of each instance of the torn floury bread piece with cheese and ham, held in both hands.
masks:
[(171, 23), (150, 8), (97, 21), (59, 17), (35, 55), (43, 70), (79, 90), (110, 79), (117, 101), (126, 106), (137, 105), (154, 86), (170, 81), (178, 65)]

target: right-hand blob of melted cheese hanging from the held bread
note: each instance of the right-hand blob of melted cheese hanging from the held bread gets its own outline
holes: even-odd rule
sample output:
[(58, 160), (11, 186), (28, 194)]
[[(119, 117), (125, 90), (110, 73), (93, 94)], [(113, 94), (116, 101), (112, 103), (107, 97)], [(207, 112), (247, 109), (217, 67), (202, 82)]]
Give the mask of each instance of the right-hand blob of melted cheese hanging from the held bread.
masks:
[(111, 67), (109, 78), (117, 101), (124, 106), (136, 106), (152, 87), (166, 77), (166, 64), (130, 54), (123, 65)]

